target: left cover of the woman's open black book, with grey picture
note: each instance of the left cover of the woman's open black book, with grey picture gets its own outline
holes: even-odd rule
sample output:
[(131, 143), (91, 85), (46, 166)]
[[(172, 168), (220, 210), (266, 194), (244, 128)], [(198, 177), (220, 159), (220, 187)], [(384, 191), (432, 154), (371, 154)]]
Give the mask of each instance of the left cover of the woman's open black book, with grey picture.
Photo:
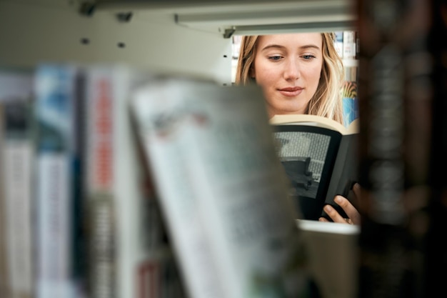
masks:
[(290, 180), (289, 194), (302, 219), (318, 220), (341, 134), (320, 126), (274, 125), (276, 152)]

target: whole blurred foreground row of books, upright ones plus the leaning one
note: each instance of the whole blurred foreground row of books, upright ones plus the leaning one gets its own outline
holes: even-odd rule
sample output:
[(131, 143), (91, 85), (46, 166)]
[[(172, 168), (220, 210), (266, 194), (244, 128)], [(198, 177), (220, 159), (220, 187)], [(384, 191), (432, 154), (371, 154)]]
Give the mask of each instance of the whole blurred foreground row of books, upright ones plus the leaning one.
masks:
[(118, 65), (11, 76), (1, 297), (310, 297), (258, 86)]

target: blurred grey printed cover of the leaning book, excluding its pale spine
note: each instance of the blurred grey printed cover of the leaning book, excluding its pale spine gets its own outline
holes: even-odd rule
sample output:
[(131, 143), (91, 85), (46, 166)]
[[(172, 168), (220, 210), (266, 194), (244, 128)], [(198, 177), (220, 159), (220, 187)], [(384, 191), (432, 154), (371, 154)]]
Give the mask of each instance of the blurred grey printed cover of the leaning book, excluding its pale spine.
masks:
[(196, 93), (190, 106), (202, 121), (189, 126), (191, 172), (226, 297), (299, 297), (296, 212), (261, 98), (234, 86)]

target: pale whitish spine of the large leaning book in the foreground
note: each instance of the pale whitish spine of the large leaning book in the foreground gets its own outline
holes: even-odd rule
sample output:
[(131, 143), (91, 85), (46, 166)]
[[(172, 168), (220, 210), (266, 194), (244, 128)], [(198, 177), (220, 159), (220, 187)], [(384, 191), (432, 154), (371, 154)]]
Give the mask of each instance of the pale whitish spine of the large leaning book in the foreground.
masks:
[(133, 108), (186, 291), (194, 298), (224, 297), (186, 167), (188, 136), (181, 113), (187, 86), (154, 83), (136, 92)]

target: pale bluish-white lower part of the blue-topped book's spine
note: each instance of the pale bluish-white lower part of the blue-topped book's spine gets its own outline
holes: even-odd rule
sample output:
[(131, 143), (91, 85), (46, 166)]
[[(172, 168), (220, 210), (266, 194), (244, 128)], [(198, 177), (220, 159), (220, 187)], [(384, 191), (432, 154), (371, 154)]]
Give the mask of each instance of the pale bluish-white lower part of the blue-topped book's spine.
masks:
[(37, 297), (73, 297), (71, 280), (71, 192), (67, 154), (40, 154)]

